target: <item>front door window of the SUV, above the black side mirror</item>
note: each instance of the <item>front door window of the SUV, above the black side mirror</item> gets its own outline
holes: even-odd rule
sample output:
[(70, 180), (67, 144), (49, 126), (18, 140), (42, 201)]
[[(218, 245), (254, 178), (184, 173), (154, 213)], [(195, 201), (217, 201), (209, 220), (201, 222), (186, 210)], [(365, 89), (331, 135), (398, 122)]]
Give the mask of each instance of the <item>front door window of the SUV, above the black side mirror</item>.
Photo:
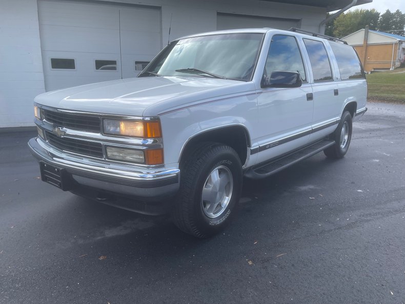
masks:
[(270, 76), (274, 71), (298, 72), (302, 82), (306, 82), (307, 76), (295, 37), (274, 35), (271, 39), (264, 74)]

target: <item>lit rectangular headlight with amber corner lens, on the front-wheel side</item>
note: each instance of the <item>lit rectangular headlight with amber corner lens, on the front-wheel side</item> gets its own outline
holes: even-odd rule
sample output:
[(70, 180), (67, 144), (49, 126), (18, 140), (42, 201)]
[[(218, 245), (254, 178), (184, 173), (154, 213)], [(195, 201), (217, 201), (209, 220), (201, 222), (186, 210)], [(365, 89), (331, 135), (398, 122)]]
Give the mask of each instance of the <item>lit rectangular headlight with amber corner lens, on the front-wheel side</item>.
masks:
[(104, 119), (105, 134), (143, 138), (161, 137), (159, 121)]

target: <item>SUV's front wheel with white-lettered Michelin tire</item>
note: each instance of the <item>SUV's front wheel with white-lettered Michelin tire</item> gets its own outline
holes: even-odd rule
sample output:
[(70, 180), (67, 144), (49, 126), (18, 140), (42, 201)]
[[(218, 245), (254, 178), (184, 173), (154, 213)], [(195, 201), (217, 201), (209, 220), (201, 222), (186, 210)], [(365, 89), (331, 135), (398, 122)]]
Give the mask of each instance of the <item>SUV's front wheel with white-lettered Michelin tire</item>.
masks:
[[(180, 230), (205, 238), (224, 229), (233, 217), (242, 189), (242, 165), (235, 150), (219, 143), (202, 143), (189, 155), (180, 166), (180, 189), (174, 201), (172, 216), (174, 224)], [(212, 205), (218, 209), (218, 215), (213, 211), (210, 217), (207, 215), (210, 205), (206, 200), (202, 200), (202, 196), (203, 189), (210, 186), (209, 180), (216, 172), (219, 177), (218, 186), (221, 180), (227, 184), (222, 187), (224, 195), (217, 194), (214, 200), (218, 197), (223, 197), (225, 200), (224, 206), (215, 205), (215, 203)], [(214, 189), (212, 185), (211, 189)], [(220, 193), (215, 190), (208, 191), (214, 193), (213, 195)]]

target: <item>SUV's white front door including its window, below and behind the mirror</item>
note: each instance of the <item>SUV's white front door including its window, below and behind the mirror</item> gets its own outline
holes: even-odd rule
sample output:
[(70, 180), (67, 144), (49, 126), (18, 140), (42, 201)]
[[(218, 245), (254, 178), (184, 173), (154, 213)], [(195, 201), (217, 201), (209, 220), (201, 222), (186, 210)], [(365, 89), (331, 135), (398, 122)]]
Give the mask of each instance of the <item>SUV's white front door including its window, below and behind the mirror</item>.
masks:
[(264, 77), (273, 71), (299, 72), (299, 88), (261, 88), (258, 101), (257, 163), (308, 143), (313, 115), (312, 87), (294, 36), (274, 35)]

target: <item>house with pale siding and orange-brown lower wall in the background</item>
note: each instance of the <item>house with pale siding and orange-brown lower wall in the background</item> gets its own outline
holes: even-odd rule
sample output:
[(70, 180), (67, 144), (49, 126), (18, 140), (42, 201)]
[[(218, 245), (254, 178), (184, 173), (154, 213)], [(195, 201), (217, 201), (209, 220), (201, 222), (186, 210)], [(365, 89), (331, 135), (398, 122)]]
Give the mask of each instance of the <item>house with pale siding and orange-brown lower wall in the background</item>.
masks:
[(404, 64), (405, 37), (361, 29), (343, 38), (353, 46), (365, 71), (394, 70)]

